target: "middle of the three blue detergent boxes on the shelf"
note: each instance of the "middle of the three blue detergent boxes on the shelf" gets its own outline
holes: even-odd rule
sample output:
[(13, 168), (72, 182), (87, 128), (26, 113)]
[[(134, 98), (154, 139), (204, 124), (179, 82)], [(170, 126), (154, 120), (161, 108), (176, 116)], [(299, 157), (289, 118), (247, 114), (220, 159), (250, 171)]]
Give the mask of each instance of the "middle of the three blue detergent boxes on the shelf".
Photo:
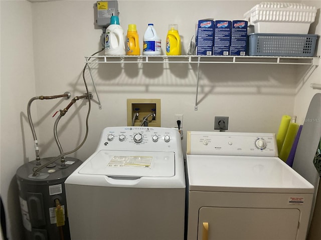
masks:
[(216, 20), (214, 30), (214, 54), (229, 55), (231, 46), (231, 26), (230, 20)]

